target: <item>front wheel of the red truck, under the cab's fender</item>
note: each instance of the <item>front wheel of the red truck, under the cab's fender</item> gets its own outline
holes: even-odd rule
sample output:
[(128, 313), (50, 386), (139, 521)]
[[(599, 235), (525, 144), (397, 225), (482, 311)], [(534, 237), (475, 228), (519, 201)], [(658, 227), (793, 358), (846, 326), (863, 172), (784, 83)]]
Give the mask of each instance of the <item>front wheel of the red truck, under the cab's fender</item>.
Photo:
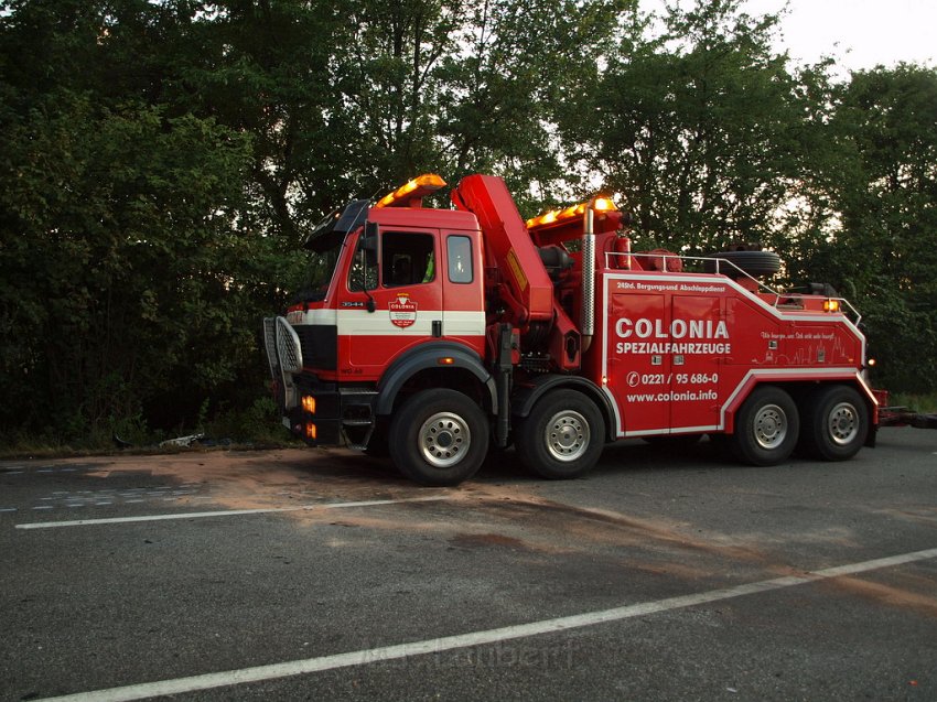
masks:
[(420, 485), (468, 479), (488, 452), (488, 420), (468, 397), (435, 388), (409, 398), (390, 422), (390, 460)]

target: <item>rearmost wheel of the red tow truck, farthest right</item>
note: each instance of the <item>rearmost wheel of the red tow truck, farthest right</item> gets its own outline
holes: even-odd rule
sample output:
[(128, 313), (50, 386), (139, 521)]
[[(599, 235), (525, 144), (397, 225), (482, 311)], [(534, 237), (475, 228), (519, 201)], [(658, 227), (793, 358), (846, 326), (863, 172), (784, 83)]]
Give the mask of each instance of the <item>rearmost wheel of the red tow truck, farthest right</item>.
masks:
[(801, 406), (800, 449), (815, 458), (847, 461), (865, 444), (869, 407), (855, 388), (817, 388)]

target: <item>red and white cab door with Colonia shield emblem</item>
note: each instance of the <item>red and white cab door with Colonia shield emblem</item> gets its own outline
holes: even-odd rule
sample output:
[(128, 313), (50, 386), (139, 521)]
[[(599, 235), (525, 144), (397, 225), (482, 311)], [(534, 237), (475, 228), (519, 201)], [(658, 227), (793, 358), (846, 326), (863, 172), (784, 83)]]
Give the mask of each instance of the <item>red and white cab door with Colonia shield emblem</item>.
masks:
[[(399, 353), (439, 333), (439, 248), (438, 230), (387, 228), (380, 231), (377, 256), (355, 256), (338, 300), (340, 354), (347, 359), (347, 366), (340, 364), (343, 372), (377, 378)], [(368, 312), (371, 301), (374, 312)]]

